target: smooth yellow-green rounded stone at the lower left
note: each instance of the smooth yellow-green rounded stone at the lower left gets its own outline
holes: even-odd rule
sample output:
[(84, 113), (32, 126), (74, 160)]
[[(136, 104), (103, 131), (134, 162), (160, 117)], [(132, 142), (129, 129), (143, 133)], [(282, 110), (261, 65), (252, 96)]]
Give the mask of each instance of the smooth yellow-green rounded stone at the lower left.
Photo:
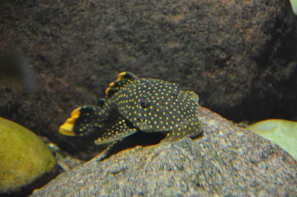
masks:
[(36, 134), (0, 117), (0, 196), (28, 192), (26, 187), (54, 166), (51, 152)]

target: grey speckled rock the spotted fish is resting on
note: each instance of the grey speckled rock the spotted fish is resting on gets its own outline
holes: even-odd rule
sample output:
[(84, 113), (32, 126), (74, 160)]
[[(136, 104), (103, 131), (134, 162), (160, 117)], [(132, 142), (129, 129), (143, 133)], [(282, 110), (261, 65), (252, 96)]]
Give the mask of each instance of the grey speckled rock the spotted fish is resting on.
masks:
[(59, 175), (32, 197), (297, 195), (297, 162), (277, 144), (201, 109), (202, 136), (123, 150)]

